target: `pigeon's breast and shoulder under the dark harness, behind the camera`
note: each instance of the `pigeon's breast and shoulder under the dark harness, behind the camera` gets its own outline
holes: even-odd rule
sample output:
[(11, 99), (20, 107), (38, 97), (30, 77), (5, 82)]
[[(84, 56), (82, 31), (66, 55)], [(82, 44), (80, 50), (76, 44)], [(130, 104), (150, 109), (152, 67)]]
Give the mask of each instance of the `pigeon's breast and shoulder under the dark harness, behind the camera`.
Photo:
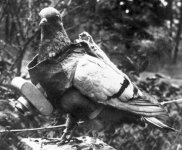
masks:
[(81, 54), (70, 54), (62, 61), (45, 60), (37, 64), (35, 57), (28, 65), (30, 78), (34, 84), (40, 83), (48, 96), (60, 96), (72, 86), (72, 79)]

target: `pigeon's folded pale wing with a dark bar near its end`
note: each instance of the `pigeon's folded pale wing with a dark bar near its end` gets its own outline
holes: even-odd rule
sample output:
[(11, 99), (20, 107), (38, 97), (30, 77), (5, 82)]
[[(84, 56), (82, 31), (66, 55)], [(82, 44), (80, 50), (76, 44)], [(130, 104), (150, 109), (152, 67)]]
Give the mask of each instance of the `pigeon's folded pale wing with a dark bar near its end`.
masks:
[(78, 62), (73, 85), (83, 95), (104, 105), (144, 116), (166, 114), (157, 102), (140, 98), (127, 75), (87, 54)]

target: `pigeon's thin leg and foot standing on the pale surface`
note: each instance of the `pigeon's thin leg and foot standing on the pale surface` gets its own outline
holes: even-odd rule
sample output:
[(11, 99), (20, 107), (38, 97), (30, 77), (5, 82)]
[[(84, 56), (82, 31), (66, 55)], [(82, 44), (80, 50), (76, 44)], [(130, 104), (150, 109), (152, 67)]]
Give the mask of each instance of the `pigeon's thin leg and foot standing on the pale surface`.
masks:
[(61, 136), (61, 140), (58, 145), (63, 145), (69, 143), (73, 137), (74, 131), (78, 127), (77, 119), (72, 115), (68, 115), (66, 120), (66, 129), (63, 131), (63, 135)]

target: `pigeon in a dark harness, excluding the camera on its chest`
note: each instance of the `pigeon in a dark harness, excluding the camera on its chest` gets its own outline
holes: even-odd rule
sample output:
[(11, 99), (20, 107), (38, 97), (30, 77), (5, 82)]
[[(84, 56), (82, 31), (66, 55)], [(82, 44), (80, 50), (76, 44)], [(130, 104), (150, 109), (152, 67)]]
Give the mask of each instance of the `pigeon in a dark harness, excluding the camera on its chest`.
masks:
[(72, 138), (80, 120), (97, 131), (108, 124), (145, 122), (176, 131), (160, 120), (168, 117), (163, 106), (117, 69), (89, 34), (72, 43), (58, 10), (47, 7), (39, 15), (41, 44), (28, 71), (53, 106), (68, 114), (61, 143)]

